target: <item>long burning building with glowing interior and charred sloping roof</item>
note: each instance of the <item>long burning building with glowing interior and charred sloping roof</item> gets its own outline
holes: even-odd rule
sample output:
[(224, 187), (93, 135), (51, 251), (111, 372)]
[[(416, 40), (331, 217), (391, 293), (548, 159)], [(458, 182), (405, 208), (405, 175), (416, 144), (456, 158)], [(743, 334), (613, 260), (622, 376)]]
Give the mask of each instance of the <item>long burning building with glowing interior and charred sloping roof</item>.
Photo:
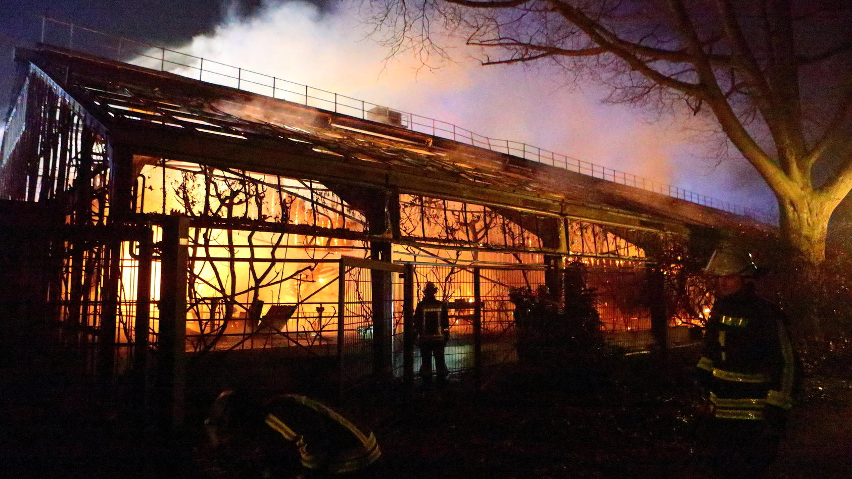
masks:
[(569, 264), (613, 345), (665, 347), (710, 301), (687, 281), (665, 307), (665, 245), (771, 231), (529, 145), (76, 35), (16, 52), (0, 193), (5, 312), (78, 374), (410, 379), (425, 282), (449, 305), (451, 372), (513, 362), (511, 294), (558, 301)]

